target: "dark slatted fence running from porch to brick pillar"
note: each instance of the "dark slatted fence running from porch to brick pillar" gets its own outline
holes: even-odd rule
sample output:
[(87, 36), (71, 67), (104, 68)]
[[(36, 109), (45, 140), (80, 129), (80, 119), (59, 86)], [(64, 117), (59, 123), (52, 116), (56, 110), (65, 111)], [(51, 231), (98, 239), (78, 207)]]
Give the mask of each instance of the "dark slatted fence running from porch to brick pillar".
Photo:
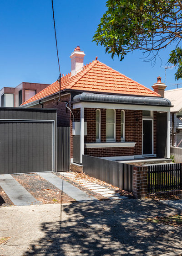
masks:
[(128, 192), (133, 192), (133, 165), (83, 155), (83, 172)]

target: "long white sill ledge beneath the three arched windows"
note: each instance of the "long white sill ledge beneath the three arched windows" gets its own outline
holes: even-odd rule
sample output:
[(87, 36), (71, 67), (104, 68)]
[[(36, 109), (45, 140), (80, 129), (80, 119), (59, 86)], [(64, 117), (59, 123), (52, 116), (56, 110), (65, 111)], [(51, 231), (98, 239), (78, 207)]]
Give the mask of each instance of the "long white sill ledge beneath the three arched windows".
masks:
[(136, 142), (101, 142), (101, 143), (85, 143), (87, 149), (91, 148), (126, 148), (134, 147)]

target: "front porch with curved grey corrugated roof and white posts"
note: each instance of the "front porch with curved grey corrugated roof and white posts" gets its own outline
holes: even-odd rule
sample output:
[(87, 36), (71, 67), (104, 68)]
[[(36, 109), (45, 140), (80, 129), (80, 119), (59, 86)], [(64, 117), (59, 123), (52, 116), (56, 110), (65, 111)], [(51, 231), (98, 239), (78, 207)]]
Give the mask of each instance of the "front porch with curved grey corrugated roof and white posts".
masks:
[(82, 93), (72, 100), (73, 152), (107, 160), (170, 158), (171, 102), (160, 97)]

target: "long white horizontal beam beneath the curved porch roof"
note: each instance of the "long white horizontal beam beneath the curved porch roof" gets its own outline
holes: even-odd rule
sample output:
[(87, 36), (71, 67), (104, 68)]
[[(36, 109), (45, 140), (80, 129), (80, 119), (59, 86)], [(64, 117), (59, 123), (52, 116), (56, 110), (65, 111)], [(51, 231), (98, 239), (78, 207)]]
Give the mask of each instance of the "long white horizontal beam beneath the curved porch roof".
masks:
[(87, 108), (106, 108), (106, 109), (129, 109), (129, 110), (152, 110), (152, 111), (170, 111), (170, 107), (149, 106), (149, 105), (135, 105), (135, 104), (116, 104), (116, 103), (101, 103), (101, 102), (76, 102), (73, 103), (73, 109), (87, 107)]

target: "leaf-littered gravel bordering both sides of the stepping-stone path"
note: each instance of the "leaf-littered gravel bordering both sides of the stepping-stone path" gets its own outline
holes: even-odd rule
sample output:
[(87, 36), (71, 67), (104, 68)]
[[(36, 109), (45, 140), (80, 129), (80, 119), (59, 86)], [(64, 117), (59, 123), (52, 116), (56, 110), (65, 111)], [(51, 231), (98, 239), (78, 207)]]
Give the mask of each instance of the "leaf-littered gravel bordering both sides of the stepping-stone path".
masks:
[(85, 181), (94, 182), (96, 184), (99, 184), (103, 187), (106, 187), (106, 188), (110, 189), (111, 191), (114, 191), (114, 192), (120, 194), (121, 196), (125, 196), (125, 197), (128, 197), (128, 198), (134, 198), (131, 192), (127, 192), (125, 190), (122, 190), (119, 187), (114, 187), (111, 184), (106, 183), (105, 181), (100, 181), (100, 180), (98, 180), (94, 177), (90, 177), (90, 176), (86, 175), (85, 173), (78, 173), (78, 172), (71, 172), (71, 171), (69, 173), (75, 175), (76, 177), (69, 177), (69, 178), (68, 177), (63, 177), (63, 176), (61, 176), (60, 173), (57, 173), (56, 175), (63, 177), (66, 181), (69, 181), (74, 186), (80, 188), (81, 190), (87, 192), (88, 194), (96, 197), (99, 200), (108, 200), (108, 198), (103, 197), (101, 195), (98, 195), (97, 193), (92, 192), (89, 189), (86, 189), (85, 187), (82, 186), (82, 183), (80, 181), (78, 181), (77, 179), (84, 179)]

